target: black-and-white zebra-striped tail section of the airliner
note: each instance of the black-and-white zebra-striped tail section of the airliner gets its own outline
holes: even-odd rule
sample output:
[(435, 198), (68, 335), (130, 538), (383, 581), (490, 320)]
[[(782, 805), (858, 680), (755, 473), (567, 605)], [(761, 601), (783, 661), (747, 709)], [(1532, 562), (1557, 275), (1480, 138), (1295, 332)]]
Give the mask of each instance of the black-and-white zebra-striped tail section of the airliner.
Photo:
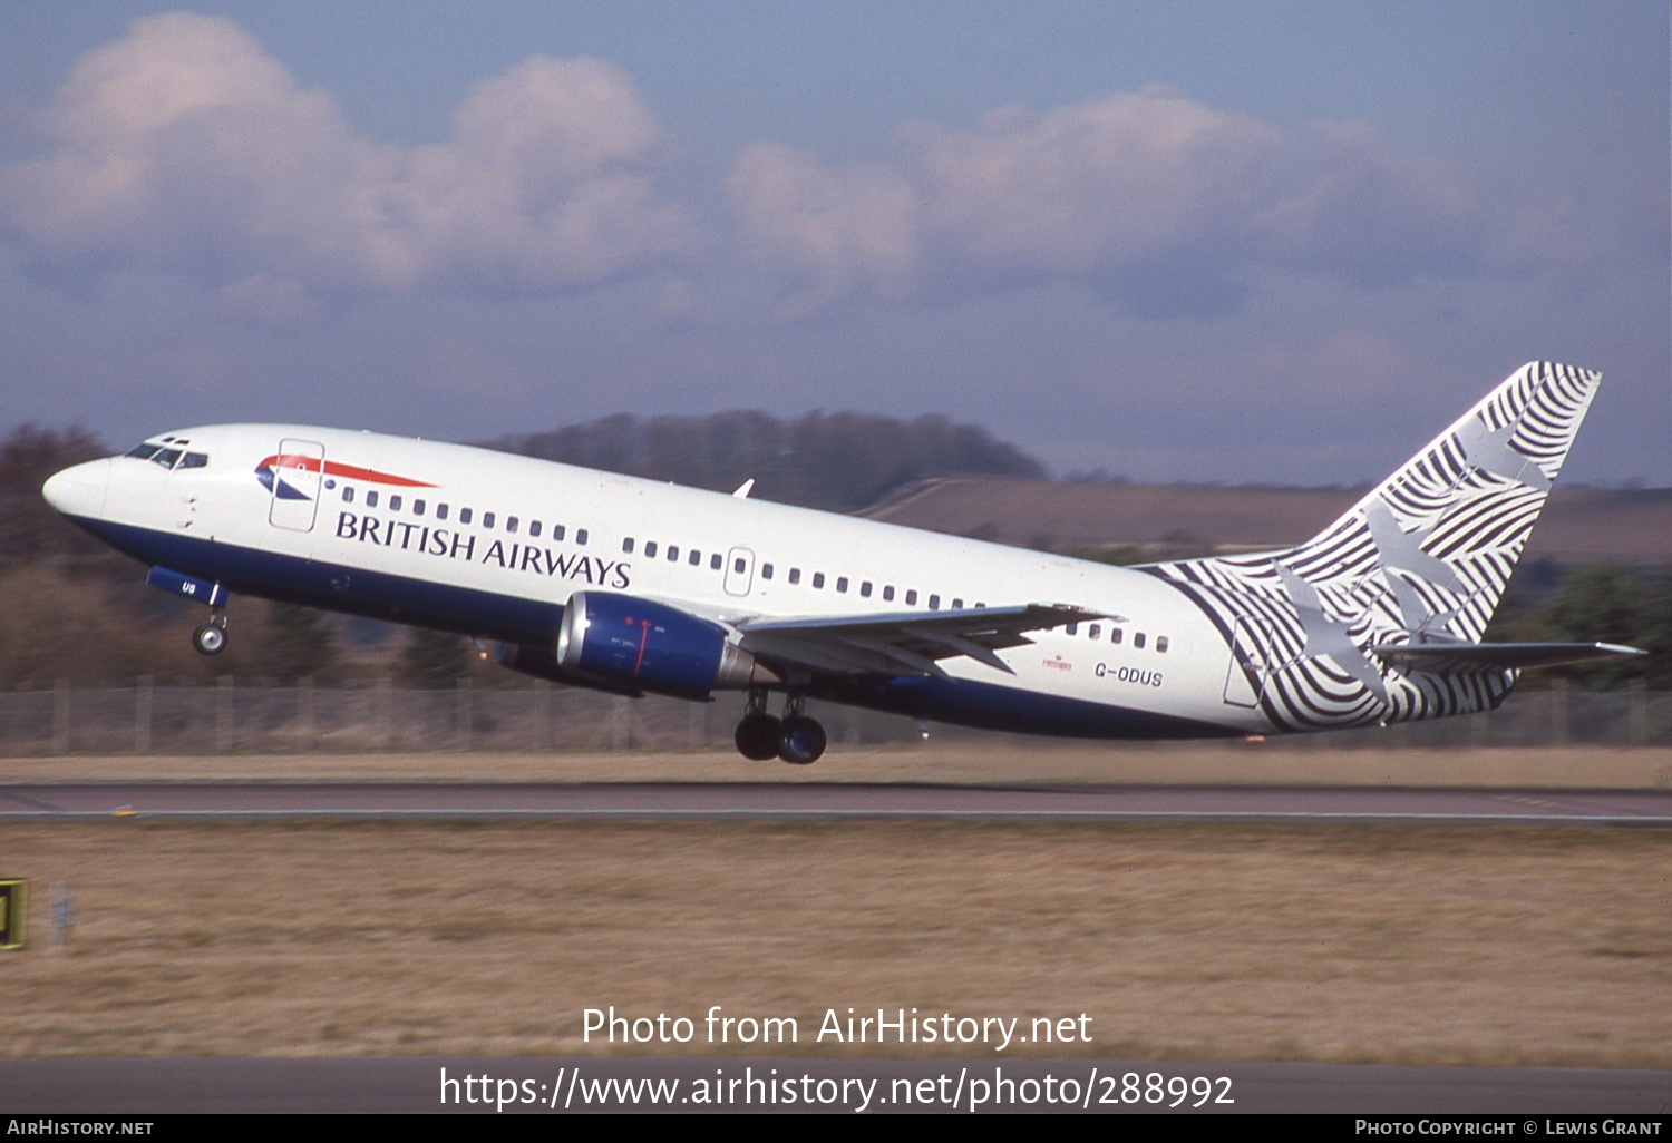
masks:
[(1496, 707), (1513, 670), (1409, 670), (1369, 648), (1480, 642), (1600, 379), (1522, 366), (1306, 543), (1145, 570), (1214, 618), (1274, 729)]

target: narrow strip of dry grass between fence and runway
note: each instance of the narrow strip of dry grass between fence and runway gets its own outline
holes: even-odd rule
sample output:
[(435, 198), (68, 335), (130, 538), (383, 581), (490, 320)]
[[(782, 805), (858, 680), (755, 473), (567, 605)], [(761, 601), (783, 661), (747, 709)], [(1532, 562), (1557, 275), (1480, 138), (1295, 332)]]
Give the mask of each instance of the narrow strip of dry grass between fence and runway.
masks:
[(707, 754), (269, 754), (0, 759), (0, 782), (938, 782), (1669, 789), (1672, 749), (1331, 749), (1057, 744), (1003, 735), (913, 747), (836, 744), (818, 765)]

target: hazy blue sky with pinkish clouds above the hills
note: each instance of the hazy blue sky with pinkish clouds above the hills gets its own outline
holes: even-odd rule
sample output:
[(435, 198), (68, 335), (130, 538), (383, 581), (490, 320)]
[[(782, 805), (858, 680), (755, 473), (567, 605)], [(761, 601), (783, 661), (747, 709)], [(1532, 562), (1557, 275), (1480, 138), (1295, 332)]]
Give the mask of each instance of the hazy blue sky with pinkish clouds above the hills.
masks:
[[(1378, 480), (1530, 359), (1672, 485), (1662, 0), (0, 0), (0, 431), (941, 413)], [(132, 439), (130, 439), (132, 438)]]

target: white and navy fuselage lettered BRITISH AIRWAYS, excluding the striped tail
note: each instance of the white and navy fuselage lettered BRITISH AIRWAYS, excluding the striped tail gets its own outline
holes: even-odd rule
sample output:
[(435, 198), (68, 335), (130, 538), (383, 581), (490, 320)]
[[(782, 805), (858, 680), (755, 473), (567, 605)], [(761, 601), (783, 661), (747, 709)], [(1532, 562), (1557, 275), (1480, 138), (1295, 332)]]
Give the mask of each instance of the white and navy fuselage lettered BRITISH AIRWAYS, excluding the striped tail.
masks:
[[(147, 450), (159, 450), (150, 451)], [(171, 456), (172, 453), (172, 456)], [(808, 693), (923, 719), (1087, 737), (1271, 730), (1227, 637), (1127, 568), (421, 439), (291, 424), (150, 438), (48, 481), (134, 558), (232, 593), (550, 648), (575, 592), (722, 625), (1058, 603), (941, 677), (819, 675)]]

